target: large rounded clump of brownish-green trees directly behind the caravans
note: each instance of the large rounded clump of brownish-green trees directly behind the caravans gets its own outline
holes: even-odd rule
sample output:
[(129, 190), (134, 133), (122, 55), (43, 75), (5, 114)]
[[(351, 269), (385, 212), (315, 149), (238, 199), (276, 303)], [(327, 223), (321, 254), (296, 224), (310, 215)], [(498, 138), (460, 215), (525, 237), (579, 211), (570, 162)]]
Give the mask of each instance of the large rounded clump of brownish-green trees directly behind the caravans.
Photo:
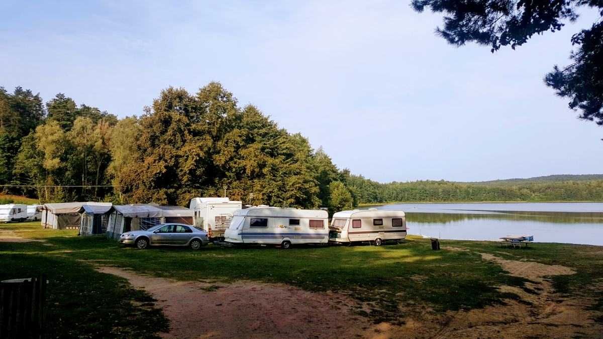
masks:
[(321, 203), (309, 142), (254, 106), (238, 107), (219, 83), (196, 95), (163, 90), (139, 124), (140, 137), (128, 150), (138, 165), (121, 166), (116, 157), (110, 166), (124, 201), (186, 204), (226, 188), (230, 198), (253, 204)]

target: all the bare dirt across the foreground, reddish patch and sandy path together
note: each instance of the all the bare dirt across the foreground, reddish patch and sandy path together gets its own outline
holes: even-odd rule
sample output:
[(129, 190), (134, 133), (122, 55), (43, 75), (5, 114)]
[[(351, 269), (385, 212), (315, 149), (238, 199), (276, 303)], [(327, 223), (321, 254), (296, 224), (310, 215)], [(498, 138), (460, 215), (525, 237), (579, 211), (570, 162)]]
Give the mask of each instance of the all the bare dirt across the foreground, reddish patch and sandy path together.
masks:
[[(408, 309), (405, 325), (373, 325), (353, 313), (359, 306), (341, 294), (312, 293), (284, 284), (236, 282), (207, 284), (142, 276), (101, 267), (125, 277), (152, 294), (171, 322), (164, 338), (570, 338), (603, 336), (603, 326), (586, 311), (589, 300), (565, 300), (554, 294), (547, 276), (573, 274), (572, 269), (537, 262), (513, 261), (482, 253), (510, 274), (532, 280), (528, 293), (502, 286), (521, 302), (472, 311), (435, 314)], [(400, 305), (400, 308), (404, 308)]]

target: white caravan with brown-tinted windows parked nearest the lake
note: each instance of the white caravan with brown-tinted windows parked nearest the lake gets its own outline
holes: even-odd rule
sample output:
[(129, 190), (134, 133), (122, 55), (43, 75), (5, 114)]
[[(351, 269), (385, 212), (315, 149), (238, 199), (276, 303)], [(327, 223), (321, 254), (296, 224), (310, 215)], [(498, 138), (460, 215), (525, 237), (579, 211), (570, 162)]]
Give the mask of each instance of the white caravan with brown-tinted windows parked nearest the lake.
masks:
[(380, 246), (386, 240), (406, 238), (406, 217), (402, 211), (376, 208), (341, 211), (333, 214), (329, 229), (329, 241), (370, 241)]

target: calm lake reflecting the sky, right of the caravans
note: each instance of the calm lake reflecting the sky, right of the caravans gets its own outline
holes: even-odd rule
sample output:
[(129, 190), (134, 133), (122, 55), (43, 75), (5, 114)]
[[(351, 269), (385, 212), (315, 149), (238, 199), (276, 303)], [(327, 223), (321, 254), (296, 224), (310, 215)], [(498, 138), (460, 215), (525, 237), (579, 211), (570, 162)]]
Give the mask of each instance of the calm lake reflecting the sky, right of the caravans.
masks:
[(441, 239), (498, 240), (534, 235), (536, 242), (603, 246), (603, 203), (400, 203), (362, 209), (406, 212), (408, 233)]

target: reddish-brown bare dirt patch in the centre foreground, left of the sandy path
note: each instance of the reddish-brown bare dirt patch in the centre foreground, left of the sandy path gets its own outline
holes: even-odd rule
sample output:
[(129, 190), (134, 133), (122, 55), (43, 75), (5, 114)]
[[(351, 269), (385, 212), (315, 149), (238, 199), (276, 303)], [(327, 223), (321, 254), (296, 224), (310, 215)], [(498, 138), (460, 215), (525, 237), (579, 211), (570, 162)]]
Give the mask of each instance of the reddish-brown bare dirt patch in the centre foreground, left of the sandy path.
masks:
[[(163, 338), (355, 338), (374, 337), (356, 302), (333, 293), (312, 293), (284, 284), (175, 281), (130, 270), (100, 267), (128, 279), (158, 300), (171, 323)], [(369, 334), (366, 334), (368, 331)]]

